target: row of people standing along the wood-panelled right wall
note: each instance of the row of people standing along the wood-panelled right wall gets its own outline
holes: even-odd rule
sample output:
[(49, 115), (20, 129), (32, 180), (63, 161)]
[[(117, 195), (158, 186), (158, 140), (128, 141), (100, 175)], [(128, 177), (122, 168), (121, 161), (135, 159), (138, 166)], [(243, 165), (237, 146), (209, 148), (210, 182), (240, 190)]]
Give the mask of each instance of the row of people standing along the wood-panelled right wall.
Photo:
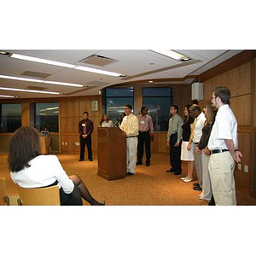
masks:
[(166, 172), (181, 174), (181, 161), (187, 161), (188, 173), (181, 179), (191, 182), (195, 167), (198, 183), (193, 189), (201, 191), (199, 199), (209, 201), (209, 205), (236, 205), (234, 170), (242, 155), (236, 117), (230, 109), (230, 90), (215, 90), (203, 112), (196, 104), (186, 105), (184, 120), (177, 111), (177, 106), (172, 105), (167, 133), (172, 167)]

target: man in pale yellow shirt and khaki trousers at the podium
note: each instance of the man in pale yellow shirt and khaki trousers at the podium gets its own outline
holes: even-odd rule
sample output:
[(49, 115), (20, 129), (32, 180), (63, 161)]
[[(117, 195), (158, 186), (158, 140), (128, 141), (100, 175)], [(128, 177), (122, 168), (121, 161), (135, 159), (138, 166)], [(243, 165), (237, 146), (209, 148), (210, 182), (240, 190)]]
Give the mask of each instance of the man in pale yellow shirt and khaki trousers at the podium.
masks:
[(126, 175), (134, 175), (137, 159), (137, 136), (138, 119), (131, 113), (131, 105), (125, 105), (125, 114), (119, 128), (123, 131), (122, 136), (126, 137), (127, 171)]

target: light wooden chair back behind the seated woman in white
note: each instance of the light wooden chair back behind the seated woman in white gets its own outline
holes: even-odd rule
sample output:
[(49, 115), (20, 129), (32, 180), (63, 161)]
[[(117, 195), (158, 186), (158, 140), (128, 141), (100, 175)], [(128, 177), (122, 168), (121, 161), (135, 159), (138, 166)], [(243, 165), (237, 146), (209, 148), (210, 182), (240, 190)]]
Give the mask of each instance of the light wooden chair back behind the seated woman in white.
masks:
[(20, 199), (19, 206), (60, 206), (60, 189), (58, 185), (38, 188), (25, 189), (18, 186)]

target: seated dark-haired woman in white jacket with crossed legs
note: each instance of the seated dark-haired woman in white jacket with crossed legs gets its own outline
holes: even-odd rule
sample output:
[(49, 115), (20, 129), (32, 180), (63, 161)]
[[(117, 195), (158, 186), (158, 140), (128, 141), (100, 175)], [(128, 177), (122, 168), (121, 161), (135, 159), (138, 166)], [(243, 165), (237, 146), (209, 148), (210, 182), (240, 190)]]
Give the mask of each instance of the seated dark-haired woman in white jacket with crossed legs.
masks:
[[(67, 176), (55, 155), (41, 154), (39, 133), (32, 127), (20, 127), (9, 143), (9, 169), (12, 180), (22, 188), (42, 188), (58, 185), (61, 206), (82, 206), (84, 198), (91, 206), (103, 206), (96, 201), (77, 175)], [(81, 198), (82, 197), (82, 198)]]

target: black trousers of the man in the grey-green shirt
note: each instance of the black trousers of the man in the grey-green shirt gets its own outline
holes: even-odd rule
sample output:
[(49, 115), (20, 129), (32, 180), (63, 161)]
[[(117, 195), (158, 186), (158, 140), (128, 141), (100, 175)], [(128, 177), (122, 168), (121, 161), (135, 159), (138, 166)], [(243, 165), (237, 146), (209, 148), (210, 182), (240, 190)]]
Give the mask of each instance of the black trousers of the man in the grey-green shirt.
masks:
[(169, 139), (170, 143), (170, 164), (172, 166), (172, 170), (181, 172), (181, 143), (179, 143), (178, 147), (174, 147), (175, 143), (177, 143), (177, 133), (172, 134)]

